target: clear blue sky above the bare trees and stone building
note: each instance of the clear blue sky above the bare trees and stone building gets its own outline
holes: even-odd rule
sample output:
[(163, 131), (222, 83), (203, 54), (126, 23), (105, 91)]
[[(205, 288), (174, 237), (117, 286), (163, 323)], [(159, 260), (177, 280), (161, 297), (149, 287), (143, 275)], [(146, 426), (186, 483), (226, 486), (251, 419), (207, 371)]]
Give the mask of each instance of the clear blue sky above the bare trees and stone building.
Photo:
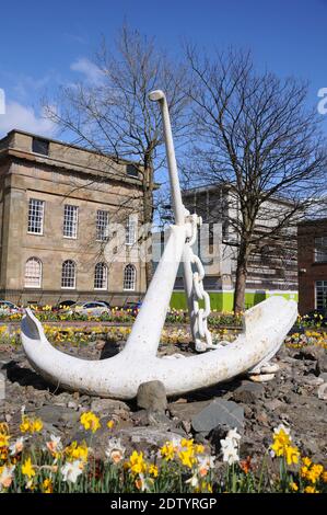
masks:
[(14, 8), (1, 5), (0, 20), (0, 88), (7, 99), (0, 136), (13, 127), (54, 135), (39, 110), (45, 89), (92, 79), (87, 59), (102, 34), (114, 42), (124, 20), (154, 35), (172, 56), (178, 56), (183, 38), (209, 52), (231, 44), (250, 48), (259, 68), (310, 80), (312, 105), (327, 88), (327, 0), (16, 0)]

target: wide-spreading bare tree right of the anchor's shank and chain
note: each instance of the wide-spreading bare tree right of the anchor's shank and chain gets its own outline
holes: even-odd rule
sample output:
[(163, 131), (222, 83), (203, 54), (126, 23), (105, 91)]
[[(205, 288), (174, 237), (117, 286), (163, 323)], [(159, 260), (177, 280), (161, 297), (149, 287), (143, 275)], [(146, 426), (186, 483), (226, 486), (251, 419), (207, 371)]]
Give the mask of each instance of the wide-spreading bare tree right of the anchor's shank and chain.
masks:
[(229, 243), (236, 248), (234, 310), (241, 311), (252, 253), (316, 202), (327, 147), (305, 83), (256, 72), (249, 53), (230, 49), (209, 59), (188, 47), (187, 59), (196, 129), (189, 179), (230, 192), (231, 209), (224, 206), (222, 216), (233, 211)]

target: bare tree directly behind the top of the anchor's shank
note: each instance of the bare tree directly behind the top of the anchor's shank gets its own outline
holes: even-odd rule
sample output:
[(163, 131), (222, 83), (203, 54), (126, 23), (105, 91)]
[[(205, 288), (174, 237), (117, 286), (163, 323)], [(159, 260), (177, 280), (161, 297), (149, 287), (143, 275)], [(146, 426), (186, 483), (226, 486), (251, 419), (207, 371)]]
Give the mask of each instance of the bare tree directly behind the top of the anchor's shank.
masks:
[[(57, 101), (46, 101), (47, 115), (74, 142), (98, 152), (137, 163), (142, 184), (141, 221), (149, 226), (143, 238), (150, 236), (153, 220), (155, 172), (164, 161), (160, 110), (149, 102), (148, 93), (162, 89), (167, 94), (172, 125), (178, 139), (187, 126), (184, 116), (187, 96), (183, 93), (185, 71), (173, 66), (164, 52), (155, 48), (154, 39), (122, 26), (115, 45), (108, 52), (105, 39), (96, 53), (96, 80), (61, 88)], [(117, 172), (118, 173), (118, 172)], [(129, 199), (126, 199), (126, 205)], [(145, 264), (147, 283), (151, 278), (151, 263)]]

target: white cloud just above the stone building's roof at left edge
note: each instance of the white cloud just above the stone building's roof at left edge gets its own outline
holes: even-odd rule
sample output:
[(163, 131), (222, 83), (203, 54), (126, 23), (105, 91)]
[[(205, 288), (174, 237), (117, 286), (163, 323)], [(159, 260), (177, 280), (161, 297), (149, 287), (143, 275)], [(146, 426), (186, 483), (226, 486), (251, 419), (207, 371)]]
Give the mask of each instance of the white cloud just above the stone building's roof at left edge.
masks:
[(0, 114), (0, 137), (5, 136), (10, 130), (17, 128), (40, 136), (54, 136), (55, 125), (39, 115), (33, 107), (25, 106), (19, 102), (8, 102), (5, 114)]

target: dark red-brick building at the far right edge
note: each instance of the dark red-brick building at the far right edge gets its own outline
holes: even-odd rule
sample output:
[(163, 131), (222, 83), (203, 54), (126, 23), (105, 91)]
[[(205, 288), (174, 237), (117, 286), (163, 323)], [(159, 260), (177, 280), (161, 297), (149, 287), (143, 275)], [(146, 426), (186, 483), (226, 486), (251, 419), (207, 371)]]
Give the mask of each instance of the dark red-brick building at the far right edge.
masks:
[(297, 226), (299, 311), (327, 311), (327, 218)]

